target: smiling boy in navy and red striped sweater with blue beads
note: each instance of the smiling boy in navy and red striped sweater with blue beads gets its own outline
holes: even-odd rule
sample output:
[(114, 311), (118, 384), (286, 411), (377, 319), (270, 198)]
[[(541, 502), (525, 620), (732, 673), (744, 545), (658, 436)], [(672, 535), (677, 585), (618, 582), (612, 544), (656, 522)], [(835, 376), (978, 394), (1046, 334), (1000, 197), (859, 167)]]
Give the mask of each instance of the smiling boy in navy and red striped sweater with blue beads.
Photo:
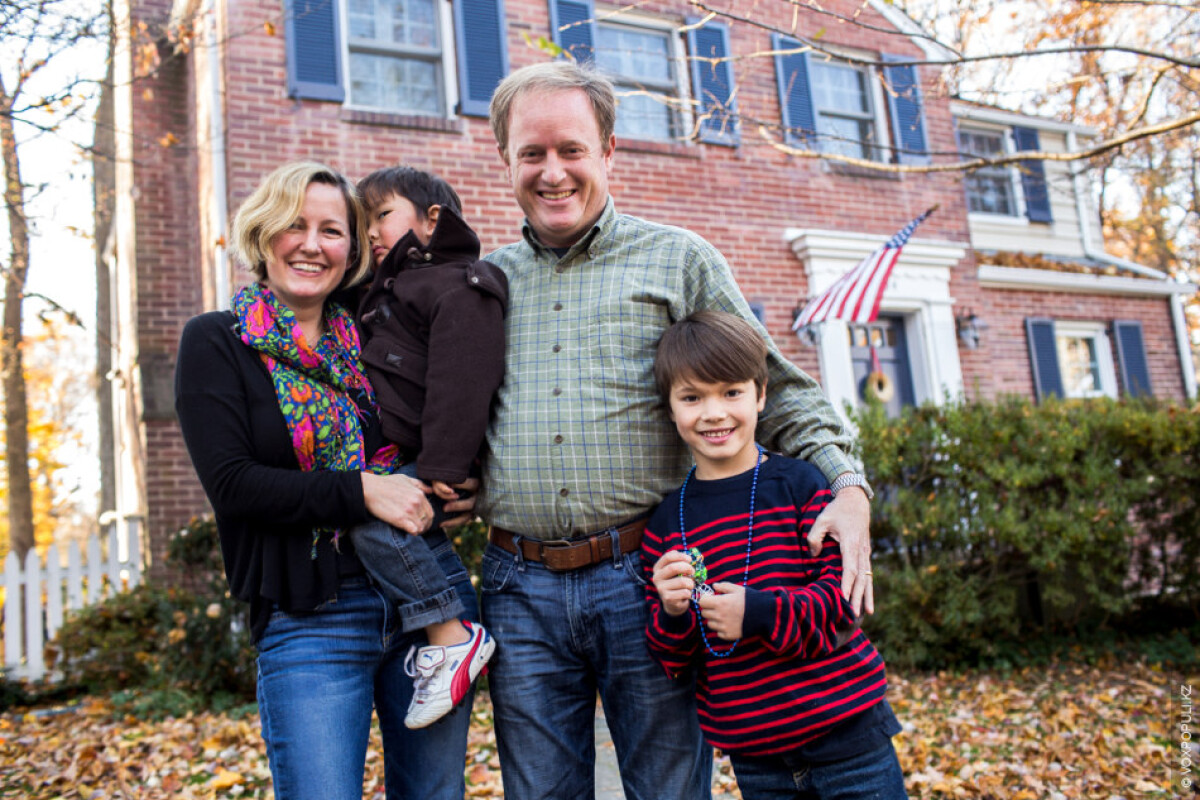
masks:
[(841, 594), (841, 551), (805, 542), (829, 485), (755, 443), (766, 356), (724, 312), (659, 343), (654, 377), (696, 465), (642, 540), (649, 649), (695, 678), (700, 726), (746, 800), (905, 798), (883, 660)]

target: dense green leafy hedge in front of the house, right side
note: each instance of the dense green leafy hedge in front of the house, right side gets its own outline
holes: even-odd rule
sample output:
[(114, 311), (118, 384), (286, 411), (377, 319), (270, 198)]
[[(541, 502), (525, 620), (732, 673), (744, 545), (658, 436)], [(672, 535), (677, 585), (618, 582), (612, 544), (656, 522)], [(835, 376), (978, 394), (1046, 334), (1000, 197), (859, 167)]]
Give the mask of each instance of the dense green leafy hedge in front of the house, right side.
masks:
[(854, 421), (889, 661), (1003, 660), (1151, 604), (1194, 619), (1200, 410), (1007, 398)]

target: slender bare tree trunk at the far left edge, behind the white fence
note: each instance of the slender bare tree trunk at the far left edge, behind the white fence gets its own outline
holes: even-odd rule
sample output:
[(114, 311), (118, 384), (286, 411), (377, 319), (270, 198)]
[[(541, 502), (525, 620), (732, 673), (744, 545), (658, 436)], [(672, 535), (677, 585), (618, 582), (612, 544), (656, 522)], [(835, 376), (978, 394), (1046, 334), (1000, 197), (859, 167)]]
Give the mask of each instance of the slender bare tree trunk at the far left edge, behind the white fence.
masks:
[(8, 473), (8, 545), (20, 559), (34, 547), (34, 493), (29, 480), (29, 404), (22, 354), (22, 303), (29, 272), (25, 188), (12, 127), (12, 98), (0, 79), (0, 156), (4, 157), (4, 200), (8, 211), (11, 251), (5, 275), (0, 374), (4, 389), (5, 463)]

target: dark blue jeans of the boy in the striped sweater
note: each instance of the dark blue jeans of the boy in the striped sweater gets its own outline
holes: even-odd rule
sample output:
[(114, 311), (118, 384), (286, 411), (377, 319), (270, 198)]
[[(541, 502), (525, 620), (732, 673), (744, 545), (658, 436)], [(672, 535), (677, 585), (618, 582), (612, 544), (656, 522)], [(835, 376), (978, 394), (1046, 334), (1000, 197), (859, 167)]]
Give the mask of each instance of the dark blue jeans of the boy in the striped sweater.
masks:
[(904, 774), (892, 742), (828, 764), (787, 756), (730, 754), (744, 800), (906, 800)]

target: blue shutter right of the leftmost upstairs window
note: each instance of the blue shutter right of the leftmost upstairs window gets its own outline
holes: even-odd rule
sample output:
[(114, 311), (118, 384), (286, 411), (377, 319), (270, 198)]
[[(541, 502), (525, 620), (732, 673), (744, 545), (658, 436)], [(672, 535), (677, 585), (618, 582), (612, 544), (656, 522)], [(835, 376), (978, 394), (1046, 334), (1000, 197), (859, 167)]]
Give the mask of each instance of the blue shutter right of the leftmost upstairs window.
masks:
[(504, 0), (455, 0), (458, 113), (487, 116), (492, 92), (509, 70)]

